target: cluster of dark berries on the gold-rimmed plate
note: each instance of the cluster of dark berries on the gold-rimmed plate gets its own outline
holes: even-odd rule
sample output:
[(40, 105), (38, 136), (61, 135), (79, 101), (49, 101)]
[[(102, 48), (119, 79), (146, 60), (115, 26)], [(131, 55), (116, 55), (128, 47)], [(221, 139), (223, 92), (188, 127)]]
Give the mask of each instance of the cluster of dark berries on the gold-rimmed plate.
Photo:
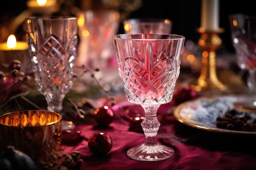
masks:
[(216, 118), (216, 127), (228, 130), (256, 132), (256, 119), (248, 123), (248, 120), (252, 119), (250, 114), (236, 109), (227, 110), (224, 116), (218, 116)]

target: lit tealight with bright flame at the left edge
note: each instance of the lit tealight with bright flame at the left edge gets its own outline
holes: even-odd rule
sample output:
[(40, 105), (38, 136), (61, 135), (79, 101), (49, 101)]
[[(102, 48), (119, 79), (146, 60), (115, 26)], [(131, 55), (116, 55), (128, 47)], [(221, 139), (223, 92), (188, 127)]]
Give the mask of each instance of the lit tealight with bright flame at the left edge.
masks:
[(10, 64), (13, 60), (24, 62), (28, 56), (27, 42), (17, 41), (15, 35), (10, 35), (7, 42), (0, 44), (0, 63)]

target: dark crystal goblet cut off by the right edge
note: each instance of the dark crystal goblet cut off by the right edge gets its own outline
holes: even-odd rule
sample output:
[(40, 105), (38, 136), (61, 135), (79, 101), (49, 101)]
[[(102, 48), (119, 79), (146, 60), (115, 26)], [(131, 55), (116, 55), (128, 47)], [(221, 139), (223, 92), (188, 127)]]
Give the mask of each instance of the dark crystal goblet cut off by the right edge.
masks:
[(240, 69), (247, 71), (247, 101), (236, 106), (256, 109), (256, 16), (229, 15), (232, 44)]

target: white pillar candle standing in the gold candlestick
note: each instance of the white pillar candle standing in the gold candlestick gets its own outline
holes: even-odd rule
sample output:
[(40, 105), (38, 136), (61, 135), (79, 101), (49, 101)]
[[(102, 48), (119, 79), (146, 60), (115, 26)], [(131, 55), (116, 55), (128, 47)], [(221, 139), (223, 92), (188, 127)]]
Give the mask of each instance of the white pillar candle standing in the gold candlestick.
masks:
[(201, 3), (201, 28), (205, 31), (218, 31), (219, 0), (202, 0)]

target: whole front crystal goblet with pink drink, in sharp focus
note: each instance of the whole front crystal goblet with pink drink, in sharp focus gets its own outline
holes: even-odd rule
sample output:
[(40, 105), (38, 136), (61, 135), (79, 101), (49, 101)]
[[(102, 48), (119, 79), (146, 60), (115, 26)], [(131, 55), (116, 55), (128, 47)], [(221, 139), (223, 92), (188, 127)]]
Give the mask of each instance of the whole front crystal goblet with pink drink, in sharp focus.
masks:
[(145, 111), (141, 123), (145, 142), (127, 151), (131, 159), (158, 161), (173, 156), (173, 148), (157, 143), (156, 135), (160, 127), (157, 110), (173, 98), (184, 40), (184, 36), (170, 34), (113, 36), (126, 97), (129, 102), (140, 104)]

